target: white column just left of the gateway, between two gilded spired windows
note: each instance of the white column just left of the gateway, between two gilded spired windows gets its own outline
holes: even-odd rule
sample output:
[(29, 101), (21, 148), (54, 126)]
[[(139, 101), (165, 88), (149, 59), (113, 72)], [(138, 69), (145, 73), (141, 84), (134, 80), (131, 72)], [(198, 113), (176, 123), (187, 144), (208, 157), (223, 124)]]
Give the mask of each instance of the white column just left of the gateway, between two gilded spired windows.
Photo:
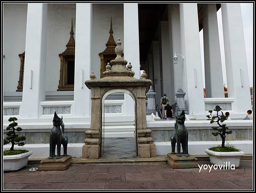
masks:
[(91, 21), (92, 4), (76, 3), (75, 117), (89, 117), (91, 112), (90, 90), (84, 85), (91, 73)]

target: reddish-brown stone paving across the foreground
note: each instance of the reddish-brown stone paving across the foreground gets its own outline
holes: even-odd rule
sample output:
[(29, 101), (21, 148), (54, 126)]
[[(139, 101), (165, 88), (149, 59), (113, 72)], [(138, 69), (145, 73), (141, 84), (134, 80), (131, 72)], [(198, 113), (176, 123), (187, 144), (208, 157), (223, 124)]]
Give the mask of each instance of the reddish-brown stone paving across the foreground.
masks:
[[(209, 164), (200, 161), (199, 164)], [(3, 175), (4, 190), (252, 190), (253, 162), (236, 170), (172, 169), (168, 165), (79, 165), (66, 171), (29, 172), (27, 165)]]

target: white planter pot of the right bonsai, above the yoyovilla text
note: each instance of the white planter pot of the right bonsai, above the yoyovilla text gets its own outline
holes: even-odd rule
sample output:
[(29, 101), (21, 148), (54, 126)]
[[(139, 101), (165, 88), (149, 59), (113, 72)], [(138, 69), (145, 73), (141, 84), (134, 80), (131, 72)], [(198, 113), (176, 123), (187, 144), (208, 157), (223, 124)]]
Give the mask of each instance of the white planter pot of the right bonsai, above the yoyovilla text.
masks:
[(230, 165), (234, 164), (235, 167), (239, 167), (240, 158), (244, 156), (243, 151), (218, 152), (206, 149), (205, 153), (209, 155), (212, 164), (222, 165), (223, 163), (230, 162)]

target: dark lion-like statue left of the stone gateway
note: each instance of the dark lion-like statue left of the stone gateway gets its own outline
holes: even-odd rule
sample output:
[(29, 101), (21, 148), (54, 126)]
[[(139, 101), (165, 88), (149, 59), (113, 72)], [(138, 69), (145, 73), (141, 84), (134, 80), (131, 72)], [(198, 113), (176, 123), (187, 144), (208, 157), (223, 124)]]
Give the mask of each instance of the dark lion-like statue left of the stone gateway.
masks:
[(54, 117), (52, 120), (53, 127), (52, 131), (50, 133), (50, 153), (49, 153), (49, 159), (53, 159), (55, 157), (55, 148), (57, 145), (57, 156), (56, 159), (61, 159), (61, 142), (62, 142), (62, 134), (61, 134), (61, 128), (64, 128), (63, 117), (58, 117), (56, 111), (54, 113)]

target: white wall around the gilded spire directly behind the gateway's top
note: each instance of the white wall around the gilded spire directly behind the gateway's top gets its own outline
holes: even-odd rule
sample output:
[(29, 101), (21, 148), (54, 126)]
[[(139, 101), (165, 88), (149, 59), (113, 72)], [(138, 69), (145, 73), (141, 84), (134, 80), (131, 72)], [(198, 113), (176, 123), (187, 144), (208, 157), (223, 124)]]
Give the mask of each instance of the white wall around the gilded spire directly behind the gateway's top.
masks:
[(93, 4), (92, 71), (96, 78), (100, 78), (99, 53), (106, 48), (111, 17), (114, 40), (117, 42), (120, 37), (124, 48), (123, 4)]

